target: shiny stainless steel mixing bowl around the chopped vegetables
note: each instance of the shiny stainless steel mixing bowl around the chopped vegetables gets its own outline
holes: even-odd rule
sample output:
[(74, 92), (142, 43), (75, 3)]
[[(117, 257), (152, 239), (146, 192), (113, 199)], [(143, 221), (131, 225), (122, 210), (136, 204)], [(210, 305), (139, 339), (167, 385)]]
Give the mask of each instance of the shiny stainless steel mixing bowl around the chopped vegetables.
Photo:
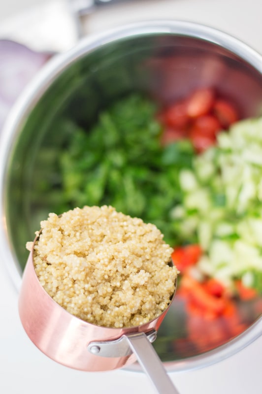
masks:
[[(46, 185), (56, 198), (61, 192), (57, 160), (67, 131), (60, 120), (88, 128), (101, 109), (129, 93), (165, 104), (208, 85), (230, 96), (241, 117), (261, 114), (261, 56), (225, 33), (183, 21), (139, 23), (86, 37), (43, 68), (13, 108), (0, 146), (0, 249), (17, 288), (28, 257), (25, 244), (53, 211), (54, 194), (45, 192)], [(218, 318), (202, 333), (210, 341), (196, 347), (183, 301), (175, 298), (154, 342), (165, 367), (205, 366), (247, 346), (262, 332), (261, 310), (252, 302), (237, 305), (242, 331), (221, 340)]]

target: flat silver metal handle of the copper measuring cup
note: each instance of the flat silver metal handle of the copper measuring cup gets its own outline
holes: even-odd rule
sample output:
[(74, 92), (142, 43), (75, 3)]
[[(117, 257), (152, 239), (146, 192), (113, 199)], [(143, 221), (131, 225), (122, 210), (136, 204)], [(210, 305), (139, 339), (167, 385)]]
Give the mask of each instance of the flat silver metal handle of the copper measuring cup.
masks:
[(125, 335), (151, 382), (160, 394), (179, 394), (167, 375), (162, 361), (144, 332)]

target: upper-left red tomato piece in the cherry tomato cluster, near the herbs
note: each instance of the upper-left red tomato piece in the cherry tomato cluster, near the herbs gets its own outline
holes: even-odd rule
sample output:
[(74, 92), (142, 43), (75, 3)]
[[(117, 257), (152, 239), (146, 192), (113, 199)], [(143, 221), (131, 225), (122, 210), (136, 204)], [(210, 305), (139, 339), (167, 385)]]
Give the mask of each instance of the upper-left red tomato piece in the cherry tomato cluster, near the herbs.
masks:
[(187, 114), (187, 102), (185, 100), (176, 101), (162, 113), (164, 124), (174, 128), (185, 128), (189, 118)]

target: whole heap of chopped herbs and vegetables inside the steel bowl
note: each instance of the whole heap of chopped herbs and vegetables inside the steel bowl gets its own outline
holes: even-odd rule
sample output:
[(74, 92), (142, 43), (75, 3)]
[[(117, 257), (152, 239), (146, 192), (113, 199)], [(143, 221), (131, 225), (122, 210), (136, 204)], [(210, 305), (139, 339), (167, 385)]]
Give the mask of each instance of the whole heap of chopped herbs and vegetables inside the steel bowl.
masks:
[(187, 340), (200, 349), (202, 332), (216, 324), (217, 342), (207, 334), (206, 349), (247, 327), (239, 299), (262, 311), (262, 119), (239, 119), (237, 105), (213, 88), (164, 108), (131, 94), (89, 128), (64, 119), (69, 140), (60, 189), (51, 192), (59, 192), (58, 214), (112, 205), (161, 230), (181, 272)]

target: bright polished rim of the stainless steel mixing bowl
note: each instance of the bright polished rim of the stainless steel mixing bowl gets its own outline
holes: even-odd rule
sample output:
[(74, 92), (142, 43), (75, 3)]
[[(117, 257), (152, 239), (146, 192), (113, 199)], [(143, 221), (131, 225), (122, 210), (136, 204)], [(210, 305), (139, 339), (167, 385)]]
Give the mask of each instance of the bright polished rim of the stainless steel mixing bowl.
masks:
[[(102, 45), (110, 44), (120, 39), (129, 39), (134, 36), (150, 34), (178, 34), (214, 43), (239, 56), (259, 72), (262, 73), (262, 55), (252, 49), (249, 45), (240, 41), (232, 35), (222, 32), (216, 28), (195, 22), (182, 20), (156, 20), (131, 23), (123, 27), (107, 30), (102, 33), (92, 34), (81, 38), (81, 40), (70, 50), (57, 54), (53, 59), (43, 66), (33, 80), (28, 84), (19, 96), (0, 133), (0, 255), (4, 270), (18, 292), (22, 282), (22, 269), (16, 262), (7, 234), (5, 218), (4, 185), (6, 180), (7, 159), (14, 141), (19, 135), (22, 125), (45, 91), (67, 66), (74, 61), (95, 51)], [(194, 370), (220, 362), (239, 352), (262, 334), (262, 317), (257, 319), (249, 328), (231, 339), (229, 342), (206, 353), (182, 359), (179, 361), (164, 361), (168, 371)], [(128, 368), (132, 371), (141, 371), (138, 364)]]

